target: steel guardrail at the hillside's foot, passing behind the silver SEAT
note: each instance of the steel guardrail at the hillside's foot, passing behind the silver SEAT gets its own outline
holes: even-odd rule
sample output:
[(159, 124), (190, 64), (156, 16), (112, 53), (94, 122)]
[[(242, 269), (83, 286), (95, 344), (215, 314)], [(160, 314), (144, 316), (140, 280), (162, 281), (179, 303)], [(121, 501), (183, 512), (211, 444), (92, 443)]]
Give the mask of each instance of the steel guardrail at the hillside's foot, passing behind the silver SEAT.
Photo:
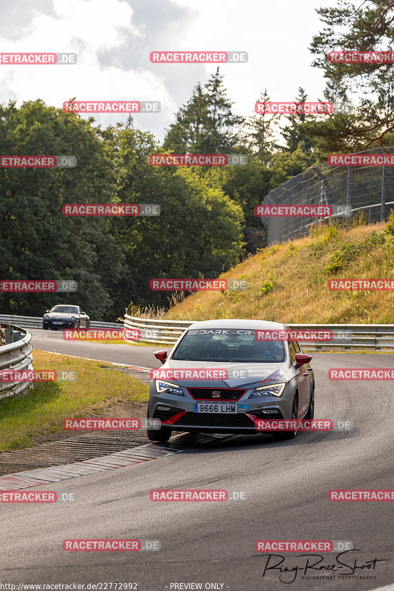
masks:
[[(196, 320), (159, 320), (138, 318), (125, 314), (123, 317), (125, 329), (144, 329), (151, 331), (152, 338), (139, 340), (152, 345), (174, 346), (184, 331)], [(324, 340), (302, 340), (298, 342), (305, 350), (384, 350), (394, 349), (394, 324), (288, 324), (291, 330), (301, 332), (323, 332), (332, 330), (338, 333), (351, 333), (351, 338), (335, 339), (332, 342)], [(154, 335), (154, 331), (159, 331)]]

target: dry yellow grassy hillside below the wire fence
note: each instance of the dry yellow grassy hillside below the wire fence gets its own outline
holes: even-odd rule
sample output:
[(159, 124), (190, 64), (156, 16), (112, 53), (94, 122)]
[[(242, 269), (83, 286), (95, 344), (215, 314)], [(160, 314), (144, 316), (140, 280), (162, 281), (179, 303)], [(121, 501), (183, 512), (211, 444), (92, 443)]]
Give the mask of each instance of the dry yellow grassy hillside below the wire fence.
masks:
[(264, 248), (225, 278), (243, 292), (196, 292), (168, 311), (172, 320), (263, 319), (285, 323), (394, 323), (394, 292), (330, 291), (330, 278), (394, 278), (394, 216), (388, 223), (336, 225)]

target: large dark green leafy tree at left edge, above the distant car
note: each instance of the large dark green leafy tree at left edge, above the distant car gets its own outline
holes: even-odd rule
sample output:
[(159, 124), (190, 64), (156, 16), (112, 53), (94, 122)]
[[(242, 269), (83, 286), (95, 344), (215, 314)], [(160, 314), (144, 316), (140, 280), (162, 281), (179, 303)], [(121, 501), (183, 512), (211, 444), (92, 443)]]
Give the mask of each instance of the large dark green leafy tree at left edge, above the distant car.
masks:
[(61, 299), (91, 316), (106, 317), (111, 282), (122, 254), (108, 219), (65, 217), (64, 203), (106, 203), (115, 177), (92, 125), (41, 100), (0, 107), (0, 153), (75, 155), (75, 168), (0, 169), (0, 272), (2, 279), (73, 279), (76, 293), (0, 294), (4, 313), (40, 316)]

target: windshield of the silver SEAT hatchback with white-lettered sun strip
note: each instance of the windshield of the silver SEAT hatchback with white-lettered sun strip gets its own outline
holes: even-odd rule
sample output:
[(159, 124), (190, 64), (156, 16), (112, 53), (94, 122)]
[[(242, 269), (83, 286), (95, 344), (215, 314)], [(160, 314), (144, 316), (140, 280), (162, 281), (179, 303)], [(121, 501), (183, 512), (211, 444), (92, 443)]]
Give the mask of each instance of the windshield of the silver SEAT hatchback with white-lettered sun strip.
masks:
[[(259, 341), (253, 329), (188, 330), (171, 359), (242, 363), (284, 362), (281, 340)], [(261, 329), (259, 329), (261, 330)]]

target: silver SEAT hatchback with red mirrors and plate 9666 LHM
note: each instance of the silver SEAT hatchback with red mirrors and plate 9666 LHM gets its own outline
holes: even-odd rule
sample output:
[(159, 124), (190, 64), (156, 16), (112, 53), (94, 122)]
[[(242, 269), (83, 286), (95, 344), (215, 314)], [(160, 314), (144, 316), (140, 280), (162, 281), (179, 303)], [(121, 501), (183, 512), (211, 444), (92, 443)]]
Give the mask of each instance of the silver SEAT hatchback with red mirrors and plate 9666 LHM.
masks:
[[(162, 362), (149, 389), (152, 441), (172, 431), (260, 433), (262, 419), (314, 417), (311, 355), (285, 324), (265, 320), (210, 320), (191, 324), (174, 348), (154, 353)], [(267, 431), (265, 431), (267, 432)], [(276, 431), (292, 439), (294, 431)]]

